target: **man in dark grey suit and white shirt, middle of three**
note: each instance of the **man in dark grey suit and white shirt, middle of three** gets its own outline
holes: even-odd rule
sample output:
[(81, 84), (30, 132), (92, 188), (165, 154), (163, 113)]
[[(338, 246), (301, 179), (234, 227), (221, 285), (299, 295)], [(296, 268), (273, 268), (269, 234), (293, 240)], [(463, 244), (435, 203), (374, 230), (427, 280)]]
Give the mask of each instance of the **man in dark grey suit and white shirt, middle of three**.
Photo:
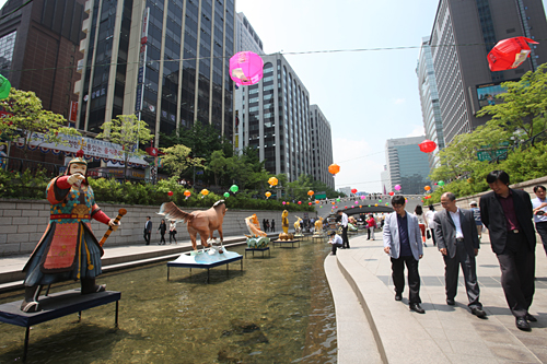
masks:
[(467, 298), (469, 298), (468, 307), (473, 315), (484, 318), (486, 313), (479, 302), (480, 291), (475, 262), (480, 243), (473, 211), (458, 209), (456, 196), (452, 192), (445, 192), (441, 196), (441, 204), (444, 211), (435, 213), (433, 221), (437, 246), (444, 258), (446, 303), (451, 306), (455, 305), (457, 277), (459, 266), (462, 266)]

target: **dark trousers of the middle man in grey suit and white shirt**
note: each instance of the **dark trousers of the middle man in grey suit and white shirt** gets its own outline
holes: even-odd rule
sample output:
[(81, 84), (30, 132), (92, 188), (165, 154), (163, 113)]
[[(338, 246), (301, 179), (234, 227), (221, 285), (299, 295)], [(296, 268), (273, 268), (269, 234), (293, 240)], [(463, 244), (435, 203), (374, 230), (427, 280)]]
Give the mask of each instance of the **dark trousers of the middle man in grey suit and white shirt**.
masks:
[(477, 282), (477, 268), (475, 257), (470, 257), (463, 242), (456, 243), (456, 254), (454, 258), (443, 256), (444, 258), (444, 279), (446, 282), (446, 298), (454, 300), (457, 293), (457, 278), (459, 275), (459, 266), (464, 272), (465, 289), (467, 291), (467, 298), (469, 298), (468, 306), (470, 308), (482, 308), (479, 303), (479, 285)]

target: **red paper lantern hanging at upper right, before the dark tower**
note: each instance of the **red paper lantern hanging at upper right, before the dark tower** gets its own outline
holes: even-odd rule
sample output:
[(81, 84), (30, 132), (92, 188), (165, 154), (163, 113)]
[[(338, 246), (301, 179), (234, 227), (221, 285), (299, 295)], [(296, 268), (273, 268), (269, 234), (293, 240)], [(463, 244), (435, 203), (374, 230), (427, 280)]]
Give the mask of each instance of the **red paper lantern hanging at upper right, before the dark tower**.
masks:
[(528, 43), (538, 44), (526, 37), (514, 37), (498, 42), (487, 57), (490, 71), (507, 71), (521, 66), (532, 51)]

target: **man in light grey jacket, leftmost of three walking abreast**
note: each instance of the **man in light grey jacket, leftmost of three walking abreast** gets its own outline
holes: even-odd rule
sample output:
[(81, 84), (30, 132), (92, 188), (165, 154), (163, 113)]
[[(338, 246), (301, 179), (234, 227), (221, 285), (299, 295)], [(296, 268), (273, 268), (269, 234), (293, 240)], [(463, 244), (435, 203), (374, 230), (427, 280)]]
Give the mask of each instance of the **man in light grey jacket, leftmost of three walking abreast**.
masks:
[(392, 212), (384, 224), (384, 251), (392, 259), (392, 278), (395, 285), (395, 301), (400, 301), (405, 289), (405, 265), (408, 270), (408, 302), (410, 309), (426, 313), (420, 307), (420, 273), (418, 261), (423, 257), (418, 218), (405, 211), (406, 201), (400, 195), (392, 198)]

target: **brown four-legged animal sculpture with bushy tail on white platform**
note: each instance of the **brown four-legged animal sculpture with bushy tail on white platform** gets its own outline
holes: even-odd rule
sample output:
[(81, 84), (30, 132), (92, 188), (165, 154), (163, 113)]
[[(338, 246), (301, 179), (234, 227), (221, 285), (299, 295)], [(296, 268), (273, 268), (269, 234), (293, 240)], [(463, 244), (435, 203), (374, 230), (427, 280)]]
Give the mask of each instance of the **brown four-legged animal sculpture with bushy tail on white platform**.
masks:
[(196, 237), (199, 233), (201, 245), (205, 248), (209, 247), (207, 240), (213, 238), (212, 233), (218, 230), (220, 235), (220, 244), (224, 240), (222, 236), (222, 222), (226, 214), (226, 206), (224, 200), (214, 202), (212, 208), (206, 211), (184, 212), (173, 202), (165, 202), (160, 208), (158, 214), (164, 215), (167, 220), (176, 220), (177, 222), (186, 222), (186, 227), (190, 234), (191, 246), (197, 250)]

